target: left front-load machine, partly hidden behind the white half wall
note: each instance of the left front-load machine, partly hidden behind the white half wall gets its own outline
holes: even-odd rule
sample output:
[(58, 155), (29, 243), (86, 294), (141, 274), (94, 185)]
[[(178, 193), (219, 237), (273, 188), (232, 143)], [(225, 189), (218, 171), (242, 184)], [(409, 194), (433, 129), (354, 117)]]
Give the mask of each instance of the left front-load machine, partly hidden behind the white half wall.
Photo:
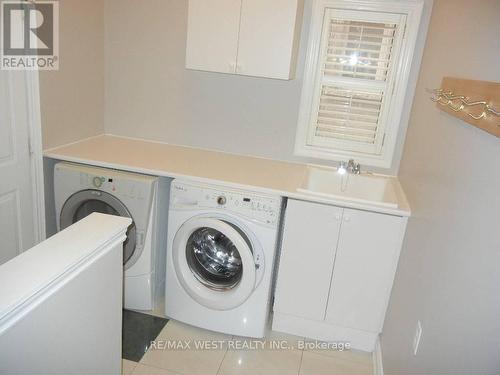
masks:
[(92, 212), (131, 218), (123, 247), (124, 307), (160, 309), (171, 180), (65, 162), (54, 168), (58, 230)]

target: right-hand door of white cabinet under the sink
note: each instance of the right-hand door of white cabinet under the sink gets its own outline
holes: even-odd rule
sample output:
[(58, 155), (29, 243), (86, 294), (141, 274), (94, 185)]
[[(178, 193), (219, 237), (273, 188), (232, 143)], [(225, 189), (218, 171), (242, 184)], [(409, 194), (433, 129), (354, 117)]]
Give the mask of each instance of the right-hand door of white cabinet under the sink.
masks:
[(344, 210), (326, 320), (379, 332), (390, 295), (405, 221)]

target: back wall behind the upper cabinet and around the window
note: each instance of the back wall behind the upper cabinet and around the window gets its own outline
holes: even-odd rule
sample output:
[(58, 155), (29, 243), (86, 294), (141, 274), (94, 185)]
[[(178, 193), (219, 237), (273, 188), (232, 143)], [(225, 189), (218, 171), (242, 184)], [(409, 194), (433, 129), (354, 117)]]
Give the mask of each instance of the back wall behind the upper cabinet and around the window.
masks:
[[(187, 4), (187, 0), (140, 4), (105, 0), (106, 132), (307, 162), (293, 155), (293, 147), (312, 1), (306, 1), (297, 79), (292, 81), (186, 70)], [(428, 15), (426, 8), (424, 24)], [(421, 56), (424, 40), (423, 32), (416, 56)], [(417, 74), (414, 69), (411, 88)], [(388, 171), (393, 174), (399, 165), (411, 91), (395, 161)]]

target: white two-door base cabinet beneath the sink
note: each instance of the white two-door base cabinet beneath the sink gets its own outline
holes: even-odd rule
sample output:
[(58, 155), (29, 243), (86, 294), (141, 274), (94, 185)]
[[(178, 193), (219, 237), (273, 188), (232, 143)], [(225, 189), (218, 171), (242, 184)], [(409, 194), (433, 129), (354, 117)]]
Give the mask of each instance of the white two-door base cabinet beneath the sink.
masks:
[(288, 200), (273, 329), (373, 351), (407, 219)]

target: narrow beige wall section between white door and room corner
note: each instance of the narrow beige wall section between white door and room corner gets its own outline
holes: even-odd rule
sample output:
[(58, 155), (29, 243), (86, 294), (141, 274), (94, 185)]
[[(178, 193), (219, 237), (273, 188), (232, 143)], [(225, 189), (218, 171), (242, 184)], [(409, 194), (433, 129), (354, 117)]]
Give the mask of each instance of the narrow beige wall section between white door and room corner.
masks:
[(40, 73), (43, 147), (104, 132), (103, 0), (60, 0), (60, 70)]

